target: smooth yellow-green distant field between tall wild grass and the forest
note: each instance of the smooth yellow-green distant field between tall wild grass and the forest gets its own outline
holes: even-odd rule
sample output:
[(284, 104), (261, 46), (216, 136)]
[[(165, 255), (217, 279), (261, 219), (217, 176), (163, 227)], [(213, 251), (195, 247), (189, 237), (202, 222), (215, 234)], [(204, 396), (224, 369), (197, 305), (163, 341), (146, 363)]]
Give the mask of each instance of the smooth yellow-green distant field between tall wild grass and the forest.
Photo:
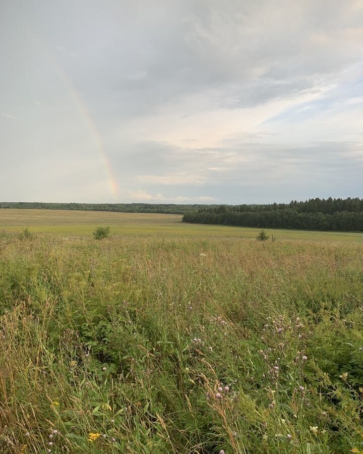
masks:
[[(261, 229), (181, 222), (178, 214), (116, 213), (104, 211), (0, 209), (0, 229), (58, 235), (91, 235), (98, 225), (110, 225), (113, 235), (166, 235), (255, 238)], [(267, 229), (279, 240), (363, 242), (362, 233), (309, 232)]]

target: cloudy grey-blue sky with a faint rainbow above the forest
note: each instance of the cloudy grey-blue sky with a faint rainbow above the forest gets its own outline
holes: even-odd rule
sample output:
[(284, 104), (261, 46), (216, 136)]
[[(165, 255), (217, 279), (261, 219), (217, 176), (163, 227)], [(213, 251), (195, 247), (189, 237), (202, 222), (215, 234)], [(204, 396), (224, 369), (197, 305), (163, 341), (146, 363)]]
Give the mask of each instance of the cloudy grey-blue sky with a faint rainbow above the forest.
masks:
[(363, 197), (363, 0), (2, 0), (0, 201)]

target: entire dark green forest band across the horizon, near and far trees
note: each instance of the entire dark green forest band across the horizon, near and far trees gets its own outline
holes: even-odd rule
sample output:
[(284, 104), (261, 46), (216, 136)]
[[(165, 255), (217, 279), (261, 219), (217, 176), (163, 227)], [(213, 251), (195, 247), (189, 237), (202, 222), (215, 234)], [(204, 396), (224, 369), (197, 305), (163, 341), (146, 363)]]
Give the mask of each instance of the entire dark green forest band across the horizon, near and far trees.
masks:
[(363, 231), (363, 199), (309, 199), (262, 205), (0, 202), (0, 208), (183, 214), (184, 222), (262, 229)]

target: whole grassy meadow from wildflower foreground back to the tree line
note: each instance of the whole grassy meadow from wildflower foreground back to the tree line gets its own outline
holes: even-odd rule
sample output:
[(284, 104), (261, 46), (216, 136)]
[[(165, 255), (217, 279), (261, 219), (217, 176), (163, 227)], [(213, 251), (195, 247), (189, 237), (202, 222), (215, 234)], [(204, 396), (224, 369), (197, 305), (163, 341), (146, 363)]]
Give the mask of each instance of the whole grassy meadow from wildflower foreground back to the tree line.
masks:
[(363, 235), (180, 219), (0, 210), (0, 452), (363, 452)]

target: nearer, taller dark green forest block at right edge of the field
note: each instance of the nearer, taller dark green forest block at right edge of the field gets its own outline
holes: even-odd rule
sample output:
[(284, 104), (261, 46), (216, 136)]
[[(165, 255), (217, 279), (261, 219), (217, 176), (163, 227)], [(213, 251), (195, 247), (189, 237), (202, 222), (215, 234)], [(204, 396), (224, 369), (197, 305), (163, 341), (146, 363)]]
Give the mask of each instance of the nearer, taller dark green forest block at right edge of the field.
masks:
[(184, 222), (262, 229), (363, 231), (363, 199), (309, 199), (267, 205), (218, 205), (186, 211)]

